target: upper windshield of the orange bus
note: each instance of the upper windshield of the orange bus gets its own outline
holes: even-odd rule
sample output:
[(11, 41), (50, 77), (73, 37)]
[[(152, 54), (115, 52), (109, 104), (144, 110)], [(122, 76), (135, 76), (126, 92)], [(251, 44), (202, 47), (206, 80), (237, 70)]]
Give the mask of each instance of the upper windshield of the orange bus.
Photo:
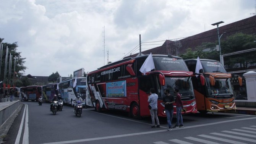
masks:
[(216, 61), (201, 61), (205, 73), (227, 73), (224, 66)]

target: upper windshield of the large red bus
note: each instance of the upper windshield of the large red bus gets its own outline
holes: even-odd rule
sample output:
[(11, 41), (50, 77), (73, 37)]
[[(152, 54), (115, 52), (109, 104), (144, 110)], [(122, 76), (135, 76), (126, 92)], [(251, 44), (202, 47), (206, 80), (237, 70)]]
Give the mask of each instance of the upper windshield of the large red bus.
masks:
[(156, 70), (189, 71), (183, 59), (170, 57), (153, 57)]

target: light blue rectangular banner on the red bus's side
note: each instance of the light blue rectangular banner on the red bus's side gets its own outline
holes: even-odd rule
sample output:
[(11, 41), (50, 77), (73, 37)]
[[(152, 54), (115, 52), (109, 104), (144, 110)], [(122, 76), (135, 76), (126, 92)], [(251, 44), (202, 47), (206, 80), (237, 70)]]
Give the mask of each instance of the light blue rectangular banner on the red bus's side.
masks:
[(106, 83), (107, 97), (126, 97), (126, 81)]

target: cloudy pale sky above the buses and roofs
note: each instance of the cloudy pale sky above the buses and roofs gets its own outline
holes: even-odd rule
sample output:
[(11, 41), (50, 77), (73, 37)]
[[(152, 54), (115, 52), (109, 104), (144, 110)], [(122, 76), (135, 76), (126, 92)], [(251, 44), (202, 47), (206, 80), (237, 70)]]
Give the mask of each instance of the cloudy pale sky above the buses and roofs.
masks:
[[(255, 0), (0, 0), (0, 38), (18, 42), (24, 75), (73, 75), (254, 16)], [(217, 40), (217, 37), (216, 37)]]

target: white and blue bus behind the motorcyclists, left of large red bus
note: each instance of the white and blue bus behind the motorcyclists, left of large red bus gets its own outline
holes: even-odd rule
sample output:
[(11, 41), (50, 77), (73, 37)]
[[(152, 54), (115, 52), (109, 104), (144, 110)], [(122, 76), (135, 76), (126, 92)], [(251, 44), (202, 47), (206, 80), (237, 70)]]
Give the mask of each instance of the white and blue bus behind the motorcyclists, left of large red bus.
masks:
[(59, 83), (59, 94), (61, 94), (65, 104), (71, 104), (73, 107), (73, 100), (76, 98), (77, 93), (80, 94), (80, 97), (83, 99), (83, 105), (85, 105), (86, 78), (68, 78)]

